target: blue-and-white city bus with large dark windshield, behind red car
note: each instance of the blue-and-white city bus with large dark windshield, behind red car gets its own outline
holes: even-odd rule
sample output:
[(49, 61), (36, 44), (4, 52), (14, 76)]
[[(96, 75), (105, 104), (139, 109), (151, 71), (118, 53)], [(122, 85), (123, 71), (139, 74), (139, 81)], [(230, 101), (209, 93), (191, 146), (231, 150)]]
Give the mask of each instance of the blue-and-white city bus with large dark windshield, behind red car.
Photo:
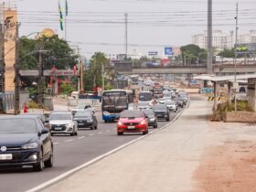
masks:
[(114, 122), (120, 112), (128, 110), (133, 105), (133, 91), (111, 90), (102, 93), (102, 120), (105, 123)]

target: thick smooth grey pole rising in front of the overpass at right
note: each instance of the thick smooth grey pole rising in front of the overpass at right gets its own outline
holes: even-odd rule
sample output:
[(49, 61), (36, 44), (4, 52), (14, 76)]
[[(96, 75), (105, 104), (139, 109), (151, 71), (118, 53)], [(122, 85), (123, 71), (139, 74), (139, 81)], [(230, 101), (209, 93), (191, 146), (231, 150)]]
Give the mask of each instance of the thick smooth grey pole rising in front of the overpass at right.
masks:
[(208, 74), (212, 74), (212, 0), (208, 0)]

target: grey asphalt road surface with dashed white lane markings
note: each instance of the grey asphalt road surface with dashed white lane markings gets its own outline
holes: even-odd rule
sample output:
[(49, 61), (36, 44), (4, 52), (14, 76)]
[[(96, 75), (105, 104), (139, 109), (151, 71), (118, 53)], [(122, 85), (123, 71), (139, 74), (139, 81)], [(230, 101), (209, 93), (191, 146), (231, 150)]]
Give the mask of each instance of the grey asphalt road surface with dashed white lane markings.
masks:
[[(171, 112), (171, 120), (177, 114), (178, 112)], [(27, 191), (142, 136), (141, 133), (117, 136), (116, 123), (103, 123), (100, 113), (97, 113), (97, 119), (98, 130), (80, 130), (78, 136), (53, 136), (55, 158), (53, 168), (47, 168), (39, 173), (33, 172), (30, 167), (0, 170), (0, 191)], [(158, 126), (162, 127), (165, 124), (166, 122), (159, 122)], [(154, 130), (150, 128), (150, 132)]]

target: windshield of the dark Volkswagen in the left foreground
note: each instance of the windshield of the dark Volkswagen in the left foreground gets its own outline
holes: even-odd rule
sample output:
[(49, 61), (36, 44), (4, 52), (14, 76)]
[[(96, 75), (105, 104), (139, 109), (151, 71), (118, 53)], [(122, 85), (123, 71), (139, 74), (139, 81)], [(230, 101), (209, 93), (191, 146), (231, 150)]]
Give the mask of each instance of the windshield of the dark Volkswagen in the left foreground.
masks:
[(0, 134), (37, 133), (35, 119), (1, 119)]

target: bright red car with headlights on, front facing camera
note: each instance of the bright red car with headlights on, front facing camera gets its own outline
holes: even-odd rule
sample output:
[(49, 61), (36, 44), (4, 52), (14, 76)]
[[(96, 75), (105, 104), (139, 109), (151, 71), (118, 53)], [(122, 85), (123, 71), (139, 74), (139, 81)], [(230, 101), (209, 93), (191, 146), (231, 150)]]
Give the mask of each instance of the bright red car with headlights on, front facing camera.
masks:
[(147, 118), (139, 110), (125, 110), (121, 112), (117, 123), (117, 134), (123, 133), (148, 133)]

